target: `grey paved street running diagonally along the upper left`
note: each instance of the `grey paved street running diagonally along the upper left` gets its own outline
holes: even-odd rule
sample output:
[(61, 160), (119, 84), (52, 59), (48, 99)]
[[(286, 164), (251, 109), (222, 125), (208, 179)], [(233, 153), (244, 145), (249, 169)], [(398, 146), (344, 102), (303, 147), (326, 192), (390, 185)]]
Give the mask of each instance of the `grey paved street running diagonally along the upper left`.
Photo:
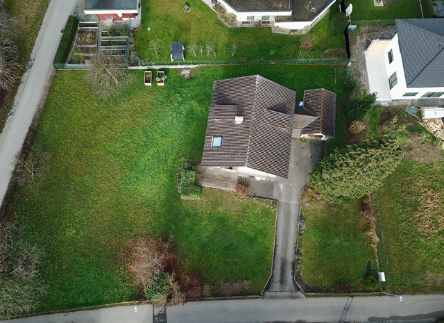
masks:
[(8, 189), (15, 167), (15, 156), (22, 149), (47, 80), (53, 71), (53, 58), (62, 38), (60, 31), (65, 28), (68, 15), (74, 13), (77, 1), (51, 0), (49, 3), (28, 63), (31, 68), (22, 77), (12, 111), (0, 135), (0, 201), (3, 201)]

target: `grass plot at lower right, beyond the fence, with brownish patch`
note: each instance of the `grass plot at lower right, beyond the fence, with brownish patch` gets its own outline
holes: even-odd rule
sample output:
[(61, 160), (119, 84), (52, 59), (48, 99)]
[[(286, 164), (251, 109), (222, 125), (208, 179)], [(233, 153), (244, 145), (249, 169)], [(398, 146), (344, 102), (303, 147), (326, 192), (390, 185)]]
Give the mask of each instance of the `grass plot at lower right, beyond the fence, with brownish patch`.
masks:
[(376, 192), (382, 288), (444, 289), (444, 163), (402, 163)]

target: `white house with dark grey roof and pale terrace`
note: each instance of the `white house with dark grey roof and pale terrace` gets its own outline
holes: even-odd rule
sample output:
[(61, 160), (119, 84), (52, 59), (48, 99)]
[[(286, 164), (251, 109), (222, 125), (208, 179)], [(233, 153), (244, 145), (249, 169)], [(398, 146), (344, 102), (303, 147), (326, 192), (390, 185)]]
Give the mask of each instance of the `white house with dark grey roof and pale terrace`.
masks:
[(396, 29), (366, 49), (370, 92), (378, 101), (444, 98), (444, 19), (397, 19)]

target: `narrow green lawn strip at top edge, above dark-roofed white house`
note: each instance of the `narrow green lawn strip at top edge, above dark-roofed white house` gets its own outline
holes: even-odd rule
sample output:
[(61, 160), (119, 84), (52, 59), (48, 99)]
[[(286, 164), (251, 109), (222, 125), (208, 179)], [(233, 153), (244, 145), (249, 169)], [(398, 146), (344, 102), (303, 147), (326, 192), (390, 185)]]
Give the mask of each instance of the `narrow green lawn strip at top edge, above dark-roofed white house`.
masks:
[[(383, 0), (384, 2), (384, 0)], [(372, 0), (348, 0), (345, 4), (352, 3), (352, 20), (377, 20), (377, 19), (406, 19), (406, 18), (431, 18), (434, 15), (432, 0), (393, 0), (392, 3), (384, 3), (384, 6), (376, 7)]]

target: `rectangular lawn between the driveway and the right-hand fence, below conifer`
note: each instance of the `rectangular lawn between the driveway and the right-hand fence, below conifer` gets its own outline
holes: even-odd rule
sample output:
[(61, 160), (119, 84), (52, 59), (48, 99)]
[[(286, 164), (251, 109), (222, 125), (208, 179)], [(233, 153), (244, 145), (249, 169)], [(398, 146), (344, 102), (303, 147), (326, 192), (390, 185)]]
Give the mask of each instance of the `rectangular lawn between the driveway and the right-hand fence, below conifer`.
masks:
[(302, 235), (302, 278), (326, 291), (364, 290), (366, 263), (375, 269), (370, 224), (359, 215), (359, 202), (336, 205), (316, 198), (302, 207), (307, 226)]

